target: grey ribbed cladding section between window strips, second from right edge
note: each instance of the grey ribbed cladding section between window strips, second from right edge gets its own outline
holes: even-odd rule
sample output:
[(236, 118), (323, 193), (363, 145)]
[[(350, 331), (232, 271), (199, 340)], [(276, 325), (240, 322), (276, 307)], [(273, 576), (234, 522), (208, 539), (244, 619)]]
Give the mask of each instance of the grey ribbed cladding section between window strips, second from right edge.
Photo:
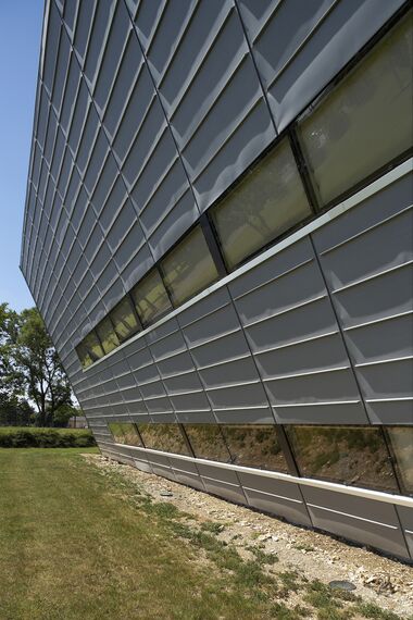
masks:
[[(286, 405), (297, 418), (301, 405), (326, 404), (335, 423), (346, 423), (341, 404), (353, 401), (351, 422), (366, 422), (309, 237), (230, 283), (229, 290), (276, 416), (281, 407), (288, 420)], [(325, 422), (325, 409), (313, 408), (311, 419)]]

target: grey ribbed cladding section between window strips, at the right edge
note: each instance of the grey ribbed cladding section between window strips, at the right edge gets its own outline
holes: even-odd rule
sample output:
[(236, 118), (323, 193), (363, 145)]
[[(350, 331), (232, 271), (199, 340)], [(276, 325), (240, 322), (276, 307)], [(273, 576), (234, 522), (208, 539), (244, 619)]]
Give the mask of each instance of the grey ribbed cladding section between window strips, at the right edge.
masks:
[(372, 423), (413, 423), (412, 175), (313, 233)]

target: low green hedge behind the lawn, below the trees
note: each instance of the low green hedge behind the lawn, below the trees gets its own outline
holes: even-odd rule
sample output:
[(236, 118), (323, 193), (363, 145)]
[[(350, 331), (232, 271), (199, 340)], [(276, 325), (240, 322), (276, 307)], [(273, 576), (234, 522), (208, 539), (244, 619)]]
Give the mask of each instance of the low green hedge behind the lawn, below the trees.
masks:
[(87, 448), (96, 446), (87, 429), (0, 426), (0, 448)]

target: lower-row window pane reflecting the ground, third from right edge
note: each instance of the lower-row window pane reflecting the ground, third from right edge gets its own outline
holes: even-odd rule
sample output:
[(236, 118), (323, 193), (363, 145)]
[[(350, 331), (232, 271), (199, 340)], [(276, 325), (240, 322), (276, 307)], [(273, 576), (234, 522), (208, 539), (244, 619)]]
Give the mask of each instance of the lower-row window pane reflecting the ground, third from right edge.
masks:
[(271, 424), (224, 424), (221, 426), (233, 463), (288, 473), (288, 467)]

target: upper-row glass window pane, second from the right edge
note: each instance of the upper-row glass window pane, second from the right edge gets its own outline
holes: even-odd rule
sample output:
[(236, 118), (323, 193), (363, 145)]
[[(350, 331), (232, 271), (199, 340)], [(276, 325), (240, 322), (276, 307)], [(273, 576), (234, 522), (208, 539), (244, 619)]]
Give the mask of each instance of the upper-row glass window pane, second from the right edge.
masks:
[(228, 268), (309, 215), (301, 177), (285, 139), (213, 210)]

